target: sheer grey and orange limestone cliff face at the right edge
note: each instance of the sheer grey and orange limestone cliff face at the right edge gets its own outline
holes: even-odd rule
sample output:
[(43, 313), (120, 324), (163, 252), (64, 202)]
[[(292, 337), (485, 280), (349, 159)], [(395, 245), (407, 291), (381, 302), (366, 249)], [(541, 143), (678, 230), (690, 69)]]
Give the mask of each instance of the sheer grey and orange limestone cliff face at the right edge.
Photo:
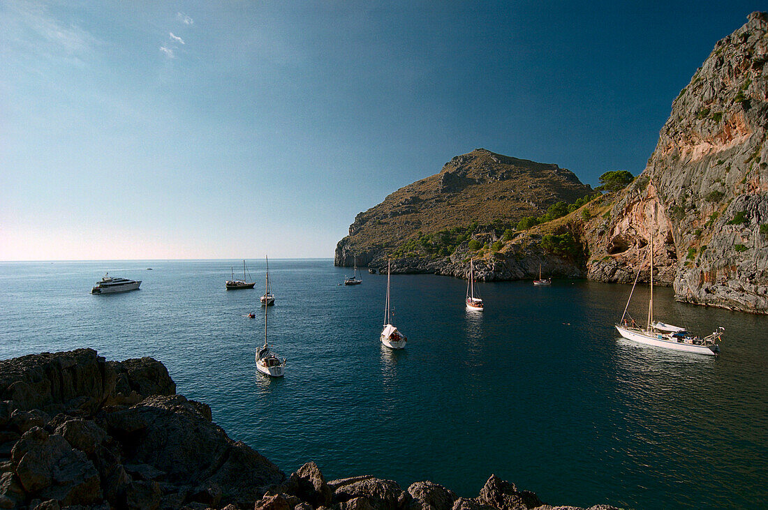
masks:
[(653, 235), (654, 278), (674, 285), (679, 301), (768, 311), (766, 63), (768, 15), (755, 12), (674, 100), (646, 169), (610, 218), (587, 225), (589, 278), (631, 281), (649, 265)]

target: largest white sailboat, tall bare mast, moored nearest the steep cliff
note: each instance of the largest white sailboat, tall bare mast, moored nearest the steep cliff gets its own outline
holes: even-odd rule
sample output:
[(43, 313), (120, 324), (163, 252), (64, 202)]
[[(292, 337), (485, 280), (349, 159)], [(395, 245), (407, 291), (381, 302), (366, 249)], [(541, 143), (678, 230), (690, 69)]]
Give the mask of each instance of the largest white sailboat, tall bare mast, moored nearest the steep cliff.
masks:
[[(645, 327), (640, 327), (630, 314), (627, 314), (627, 308), (632, 300), (632, 293), (637, 278), (640, 278), (640, 269), (637, 269), (637, 276), (634, 278), (632, 290), (627, 299), (627, 306), (624, 307), (624, 314), (621, 314), (619, 324), (615, 324), (617, 331), (627, 340), (635, 341), (640, 344), (653, 345), (654, 347), (664, 347), (665, 349), (684, 350), (697, 354), (707, 354), (716, 356), (720, 353), (720, 337), (725, 331), (724, 327), (718, 327), (716, 331), (706, 337), (697, 337), (690, 334), (684, 327), (664, 324), (664, 322), (654, 322), (654, 236), (650, 234), (649, 243), (650, 252), (650, 301), (648, 302), (648, 320)], [(645, 262), (645, 256), (643, 257)], [(643, 265), (641, 262), (641, 266)]]

